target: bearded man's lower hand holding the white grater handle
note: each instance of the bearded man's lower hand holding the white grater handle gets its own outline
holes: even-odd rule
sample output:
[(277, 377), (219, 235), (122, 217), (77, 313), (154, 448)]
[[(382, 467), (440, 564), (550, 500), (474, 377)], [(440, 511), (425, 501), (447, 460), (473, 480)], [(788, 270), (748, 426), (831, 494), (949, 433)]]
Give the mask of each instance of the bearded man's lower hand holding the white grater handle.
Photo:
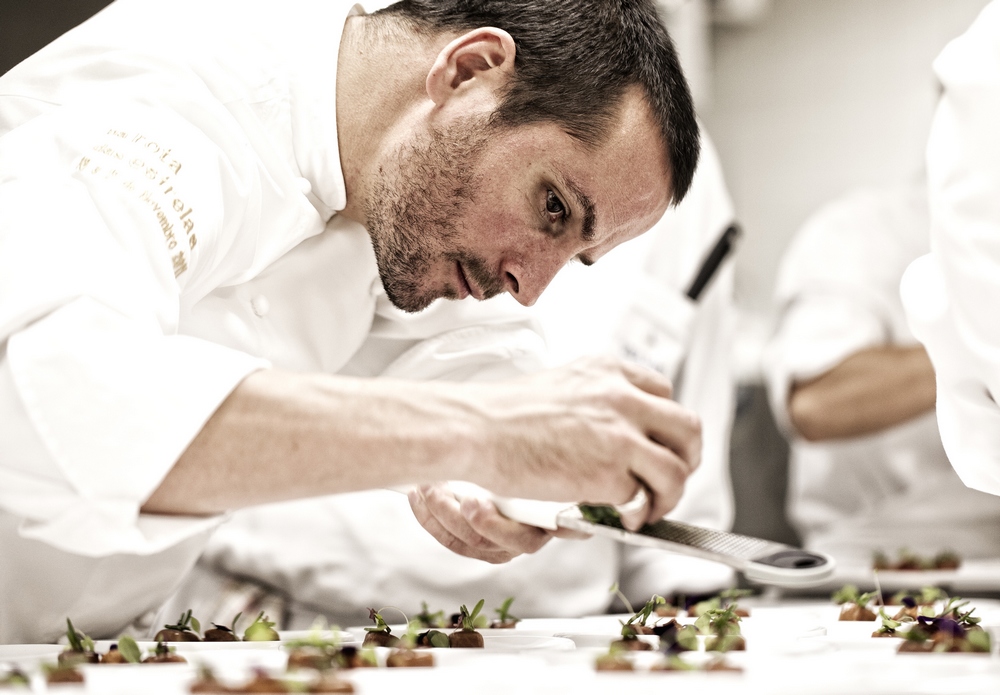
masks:
[(499, 564), (533, 553), (551, 538), (586, 538), (568, 530), (547, 531), (511, 521), (486, 499), (455, 497), (447, 484), (410, 491), (417, 521), (444, 547), (466, 557)]

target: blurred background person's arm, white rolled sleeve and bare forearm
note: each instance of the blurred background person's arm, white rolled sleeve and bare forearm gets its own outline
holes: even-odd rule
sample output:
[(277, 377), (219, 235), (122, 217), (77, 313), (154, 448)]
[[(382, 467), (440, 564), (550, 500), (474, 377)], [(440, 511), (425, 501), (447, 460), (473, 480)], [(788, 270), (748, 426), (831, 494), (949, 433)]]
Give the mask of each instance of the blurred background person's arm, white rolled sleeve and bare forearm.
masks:
[(782, 258), (778, 326), (763, 367), (789, 436), (853, 437), (934, 401), (933, 374), (902, 321), (899, 277), (926, 248), (920, 185), (856, 191), (818, 210)]

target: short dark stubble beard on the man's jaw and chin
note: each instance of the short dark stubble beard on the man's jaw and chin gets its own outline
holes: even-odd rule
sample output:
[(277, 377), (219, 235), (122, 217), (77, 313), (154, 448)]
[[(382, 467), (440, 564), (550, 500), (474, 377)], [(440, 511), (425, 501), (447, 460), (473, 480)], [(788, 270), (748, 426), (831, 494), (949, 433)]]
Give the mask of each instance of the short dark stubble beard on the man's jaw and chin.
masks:
[(457, 222), (482, 185), (475, 172), (491, 132), (485, 122), (469, 119), (401, 145), (395, 167), (379, 167), (365, 201), (368, 235), (386, 296), (402, 311), (457, 298), (454, 289), (422, 286), (441, 259), (462, 263), (485, 296), (504, 289), (483, 258), (458, 247)]

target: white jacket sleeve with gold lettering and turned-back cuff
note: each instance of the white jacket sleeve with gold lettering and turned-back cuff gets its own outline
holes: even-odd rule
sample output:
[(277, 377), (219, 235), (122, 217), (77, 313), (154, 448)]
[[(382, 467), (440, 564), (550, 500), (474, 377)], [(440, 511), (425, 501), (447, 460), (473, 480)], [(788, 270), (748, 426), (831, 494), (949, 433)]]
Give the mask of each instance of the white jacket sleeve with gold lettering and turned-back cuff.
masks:
[(94, 97), (0, 138), (0, 509), (68, 553), (146, 555), (215, 523), (139, 509), (267, 366), (177, 332), (255, 183), (211, 118)]

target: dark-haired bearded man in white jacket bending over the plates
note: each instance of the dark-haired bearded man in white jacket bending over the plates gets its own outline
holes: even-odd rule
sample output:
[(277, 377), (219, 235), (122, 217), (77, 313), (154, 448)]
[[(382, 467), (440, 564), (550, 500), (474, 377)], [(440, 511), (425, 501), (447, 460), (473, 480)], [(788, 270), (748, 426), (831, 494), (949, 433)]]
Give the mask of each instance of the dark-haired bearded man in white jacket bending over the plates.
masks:
[(0, 80), (0, 641), (116, 634), (235, 508), (417, 484), (497, 559), (550, 534), (426, 486), (674, 506), (700, 424), (652, 370), (367, 378), (530, 371), (512, 302), (436, 300), (534, 303), (697, 160), (651, 4), (430, 5), (122, 0)]

